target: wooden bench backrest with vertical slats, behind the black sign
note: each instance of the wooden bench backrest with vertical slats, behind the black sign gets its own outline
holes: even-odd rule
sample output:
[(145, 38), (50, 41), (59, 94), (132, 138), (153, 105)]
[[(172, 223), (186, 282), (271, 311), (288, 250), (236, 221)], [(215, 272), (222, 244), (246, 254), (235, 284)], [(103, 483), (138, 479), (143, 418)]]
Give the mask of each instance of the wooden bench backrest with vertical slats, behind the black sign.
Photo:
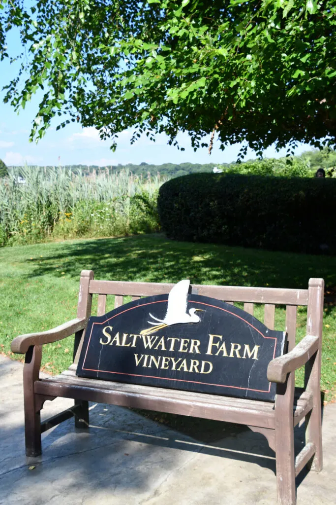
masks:
[[(97, 315), (102, 316), (106, 313), (106, 299), (108, 295), (114, 295), (114, 308), (117, 308), (123, 305), (125, 296), (131, 296), (131, 299), (135, 300), (145, 296), (166, 294), (173, 286), (174, 284), (156, 282), (94, 280), (92, 270), (83, 270), (80, 281), (77, 316), (89, 317), (91, 315), (92, 296), (95, 294), (98, 294)], [(244, 311), (252, 315), (255, 315), (255, 304), (262, 304), (263, 323), (271, 330), (275, 327), (276, 306), (285, 306), (285, 327), (277, 329), (288, 333), (288, 350), (291, 350), (295, 346), (298, 307), (307, 307), (305, 334), (321, 337), (324, 294), (323, 279), (309, 279), (308, 289), (193, 284), (192, 292), (217, 298), (229, 304), (243, 303)], [(260, 309), (258, 309), (258, 313), (260, 313)], [(259, 314), (256, 317), (261, 320)], [(83, 336), (79, 336), (76, 344), (78, 352), (75, 363), (78, 361), (81, 349), (80, 338), (83, 340)]]

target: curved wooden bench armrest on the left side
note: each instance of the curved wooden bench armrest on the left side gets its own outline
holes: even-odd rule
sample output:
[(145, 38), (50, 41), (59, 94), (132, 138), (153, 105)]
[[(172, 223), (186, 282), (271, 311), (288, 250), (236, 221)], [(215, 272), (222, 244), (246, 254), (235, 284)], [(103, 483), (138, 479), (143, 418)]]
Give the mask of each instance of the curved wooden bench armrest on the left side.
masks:
[(56, 328), (52, 328), (51, 330), (19, 335), (12, 340), (11, 349), (18, 354), (25, 354), (31, 345), (48, 344), (69, 337), (77, 331), (83, 330), (86, 323), (86, 318), (72, 319), (68, 323), (56, 326)]

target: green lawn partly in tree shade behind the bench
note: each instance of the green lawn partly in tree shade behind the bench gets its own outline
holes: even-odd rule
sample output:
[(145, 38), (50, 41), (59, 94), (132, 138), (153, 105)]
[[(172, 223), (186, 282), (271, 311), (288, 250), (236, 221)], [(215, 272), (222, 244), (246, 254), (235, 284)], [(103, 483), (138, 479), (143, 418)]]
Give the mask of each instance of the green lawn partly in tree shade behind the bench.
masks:
[[(335, 292), (336, 257), (308, 256), (223, 245), (175, 242), (162, 235), (73, 240), (0, 249), (0, 351), (13, 358), (11, 340), (76, 316), (79, 277), (92, 269), (97, 279), (307, 288), (309, 277), (323, 277)], [(110, 297), (112, 298), (112, 297)], [(97, 300), (95, 300), (96, 303)], [(109, 300), (108, 309), (113, 307)], [(305, 334), (305, 309), (299, 309), (298, 336)], [(255, 316), (262, 321), (262, 312)], [(324, 309), (322, 389), (336, 397), (336, 308)], [(285, 313), (277, 309), (276, 329)], [(43, 352), (46, 372), (71, 363), (72, 337), (49, 344)], [(302, 380), (302, 374), (298, 374)]]

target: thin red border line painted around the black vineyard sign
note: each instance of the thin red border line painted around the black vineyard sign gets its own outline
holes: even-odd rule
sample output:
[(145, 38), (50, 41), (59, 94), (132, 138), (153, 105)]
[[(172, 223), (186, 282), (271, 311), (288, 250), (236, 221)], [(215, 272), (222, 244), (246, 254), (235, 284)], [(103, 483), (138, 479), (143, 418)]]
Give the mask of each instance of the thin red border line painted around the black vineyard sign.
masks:
[[(95, 324), (99, 324), (99, 325), (106, 324), (111, 319), (113, 319), (113, 318), (115, 318), (117, 316), (120, 316), (121, 314), (124, 314), (125, 312), (131, 311), (133, 309), (138, 309), (139, 307), (145, 307), (146, 305), (161, 304), (161, 303), (166, 302), (166, 301), (168, 301), (168, 298), (165, 299), (165, 300), (150, 301), (147, 304), (137, 305), (136, 307), (131, 307), (130, 309), (126, 309), (126, 310), (124, 310), (122, 312), (119, 312), (118, 314), (115, 314), (114, 316), (110, 317), (109, 319), (106, 319), (106, 321), (102, 321), (101, 323), (98, 323), (98, 322), (93, 323), (92, 324), (92, 328), (91, 328), (91, 332), (90, 332), (89, 342), (88, 342), (88, 345), (87, 345), (87, 348), (86, 348), (86, 352), (85, 352), (85, 357), (84, 357), (84, 360), (83, 360), (82, 369), (83, 370), (87, 370), (88, 372), (104, 372), (104, 373), (108, 373), (108, 374), (128, 375), (130, 377), (145, 377), (145, 378), (148, 378), (148, 379), (173, 380), (173, 381), (179, 381), (179, 382), (190, 382), (192, 384), (204, 384), (205, 386), (229, 387), (229, 388), (233, 388), (233, 389), (244, 389), (245, 391), (257, 391), (257, 392), (260, 392), (260, 393), (269, 393), (270, 392), (270, 390), (271, 390), (271, 382), (268, 382), (268, 384), (269, 384), (268, 385), (268, 390), (267, 389), (252, 389), (252, 388), (249, 388), (249, 387), (230, 386), (230, 385), (228, 386), (228, 385), (225, 385), (225, 384), (214, 384), (214, 383), (211, 383), (211, 382), (199, 382), (199, 381), (191, 381), (191, 380), (185, 380), (185, 379), (176, 379), (176, 378), (172, 379), (172, 378), (169, 378), (169, 377), (156, 377), (156, 376), (153, 376), (153, 375), (127, 374), (125, 372), (112, 372), (110, 370), (96, 370), (96, 369), (93, 369), (93, 368), (84, 368), (84, 364), (85, 364), (86, 357), (87, 357), (88, 350), (89, 350), (89, 345), (90, 345), (90, 340), (91, 340), (91, 336), (92, 336), (92, 331), (93, 331), (93, 327), (94, 327)], [(257, 328), (255, 328), (255, 326), (253, 326), (251, 323), (249, 323), (248, 321), (246, 321), (246, 319), (238, 316), (234, 312), (228, 311), (227, 309), (223, 309), (222, 307), (217, 307), (216, 305), (206, 304), (204, 301), (195, 301), (195, 300), (190, 300), (190, 301), (192, 301), (193, 304), (206, 305), (207, 307), (213, 307), (214, 309), (219, 309), (221, 311), (227, 312), (228, 314), (231, 314), (232, 316), (235, 316), (238, 319), (241, 319), (242, 321), (244, 321), (244, 323), (246, 323), (249, 326), (251, 326), (251, 328), (253, 328), (255, 331), (257, 331), (262, 336), (262, 338), (270, 338), (270, 339), (275, 340), (274, 351), (273, 351), (273, 359), (275, 358), (276, 348), (277, 348), (277, 340), (278, 340), (277, 337), (265, 337), (265, 335), (263, 335), (261, 333), (261, 331), (259, 331)]]

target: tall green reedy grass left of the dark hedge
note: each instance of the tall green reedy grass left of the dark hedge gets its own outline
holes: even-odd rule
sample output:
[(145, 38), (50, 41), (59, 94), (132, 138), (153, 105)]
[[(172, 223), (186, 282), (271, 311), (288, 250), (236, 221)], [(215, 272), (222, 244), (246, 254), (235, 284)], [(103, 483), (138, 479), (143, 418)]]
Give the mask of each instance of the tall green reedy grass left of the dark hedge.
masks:
[(10, 168), (0, 179), (0, 245), (157, 231), (163, 182), (126, 170), (84, 175), (62, 167)]

